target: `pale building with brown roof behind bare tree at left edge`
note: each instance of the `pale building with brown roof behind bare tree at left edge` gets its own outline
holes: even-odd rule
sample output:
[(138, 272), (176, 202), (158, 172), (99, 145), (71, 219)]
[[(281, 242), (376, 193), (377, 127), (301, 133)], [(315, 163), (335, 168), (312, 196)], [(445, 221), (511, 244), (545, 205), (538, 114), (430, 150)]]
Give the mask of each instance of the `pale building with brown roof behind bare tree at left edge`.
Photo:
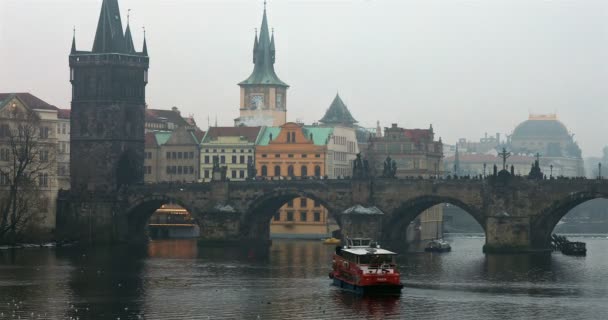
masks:
[[(38, 123), (24, 123), (24, 121), (28, 121), (24, 119), (30, 111), (34, 112)], [(59, 109), (57, 107), (31, 93), (0, 93), (0, 170), (2, 171), (2, 174), (0, 174), (0, 205), (3, 207), (7, 203), (10, 186), (16, 185), (13, 180), (16, 171), (13, 160), (16, 159), (17, 154), (12, 151), (11, 141), (17, 141), (13, 145), (17, 148), (27, 146), (38, 150), (35, 152), (37, 154), (28, 155), (28, 157), (32, 156), (33, 158), (29, 162), (27, 170), (38, 171), (33, 177), (27, 177), (34, 180), (32, 182), (35, 185), (31, 187), (31, 190), (37, 193), (37, 197), (23, 198), (23, 201), (28, 202), (23, 205), (28, 205), (31, 208), (32, 216), (24, 228), (24, 239), (21, 240), (48, 241), (53, 238), (57, 193), (61, 181), (57, 174), (58, 159), (62, 160), (62, 164), (65, 160), (65, 153), (61, 153), (58, 143), (58, 137), (62, 135), (62, 125), (58, 120), (58, 113)], [(30, 131), (30, 133), (22, 134), (21, 130), (17, 130), (18, 127), (27, 128), (30, 125), (38, 126), (37, 128), (33, 127), (35, 132)], [(66, 127), (66, 130), (69, 129)], [(28, 139), (33, 138), (35, 141), (31, 143), (19, 142), (26, 137)], [(62, 140), (65, 142), (65, 139)], [(64, 151), (69, 152), (69, 149)], [(24, 181), (21, 183), (24, 183)], [(27, 197), (28, 195), (23, 193), (22, 196)], [(25, 214), (29, 215), (29, 213)]]

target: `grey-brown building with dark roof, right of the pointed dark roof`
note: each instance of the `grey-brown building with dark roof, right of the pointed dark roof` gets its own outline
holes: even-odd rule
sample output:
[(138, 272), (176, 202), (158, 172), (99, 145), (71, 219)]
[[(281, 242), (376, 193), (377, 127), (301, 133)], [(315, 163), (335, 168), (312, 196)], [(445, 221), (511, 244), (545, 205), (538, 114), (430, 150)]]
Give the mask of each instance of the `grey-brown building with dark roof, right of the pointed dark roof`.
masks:
[[(381, 176), (384, 161), (396, 162), (398, 178), (430, 178), (443, 175), (443, 145), (435, 140), (433, 127), (404, 129), (393, 124), (384, 129), (384, 136), (369, 139), (367, 158), (376, 176)], [(424, 241), (442, 237), (443, 206), (423, 211), (406, 231), (408, 241)]]

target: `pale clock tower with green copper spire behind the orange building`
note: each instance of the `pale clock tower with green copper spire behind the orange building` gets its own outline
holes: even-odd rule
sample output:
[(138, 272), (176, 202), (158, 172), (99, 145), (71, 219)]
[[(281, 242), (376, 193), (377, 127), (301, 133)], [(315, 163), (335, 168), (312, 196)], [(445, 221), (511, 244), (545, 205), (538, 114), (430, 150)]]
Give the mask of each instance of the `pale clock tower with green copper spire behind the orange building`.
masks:
[(253, 39), (253, 72), (241, 87), (240, 117), (235, 125), (281, 126), (287, 121), (287, 89), (274, 72), (275, 45), (274, 31), (268, 30), (266, 4), (262, 27), (258, 37)]

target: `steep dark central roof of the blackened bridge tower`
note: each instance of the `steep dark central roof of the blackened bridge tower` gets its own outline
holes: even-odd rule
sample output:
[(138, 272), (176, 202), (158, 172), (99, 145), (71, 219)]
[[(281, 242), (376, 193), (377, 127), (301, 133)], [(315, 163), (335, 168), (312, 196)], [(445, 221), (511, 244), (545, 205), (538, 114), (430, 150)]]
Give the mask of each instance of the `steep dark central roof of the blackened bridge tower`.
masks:
[(93, 53), (124, 53), (125, 36), (122, 32), (118, 0), (103, 0)]

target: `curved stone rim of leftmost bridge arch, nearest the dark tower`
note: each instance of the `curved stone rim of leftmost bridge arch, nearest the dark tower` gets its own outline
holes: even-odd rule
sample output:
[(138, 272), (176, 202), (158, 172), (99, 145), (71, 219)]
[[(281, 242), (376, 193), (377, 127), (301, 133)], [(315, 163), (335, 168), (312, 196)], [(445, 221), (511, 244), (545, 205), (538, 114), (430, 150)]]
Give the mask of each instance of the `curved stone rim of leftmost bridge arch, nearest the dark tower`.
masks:
[(157, 209), (170, 203), (177, 204), (186, 209), (195, 218), (195, 222), (200, 224), (200, 222), (196, 219), (192, 206), (183, 199), (166, 194), (146, 195), (132, 201), (131, 205), (125, 210), (128, 225), (127, 235), (129, 237), (129, 241), (145, 241), (145, 230), (148, 220)]

